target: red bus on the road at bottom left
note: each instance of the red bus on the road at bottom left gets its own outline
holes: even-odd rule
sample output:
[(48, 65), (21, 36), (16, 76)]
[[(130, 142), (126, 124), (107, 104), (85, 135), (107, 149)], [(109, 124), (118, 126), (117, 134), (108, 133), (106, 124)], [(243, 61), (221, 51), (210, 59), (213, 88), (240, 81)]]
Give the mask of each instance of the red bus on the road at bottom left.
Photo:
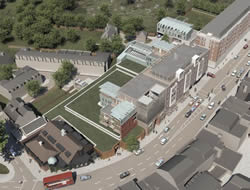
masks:
[(57, 189), (72, 184), (74, 184), (72, 172), (65, 172), (43, 178), (43, 185), (46, 187), (46, 190)]

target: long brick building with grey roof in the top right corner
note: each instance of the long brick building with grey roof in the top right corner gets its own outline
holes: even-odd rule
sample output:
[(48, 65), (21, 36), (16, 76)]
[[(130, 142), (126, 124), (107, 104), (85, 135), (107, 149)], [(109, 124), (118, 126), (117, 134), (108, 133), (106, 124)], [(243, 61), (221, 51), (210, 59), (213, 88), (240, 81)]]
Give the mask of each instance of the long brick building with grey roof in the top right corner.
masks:
[(216, 67), (250, 27), (250, 1), (236, 0), (197, 33), (195, 43), (208, 48), (209, 66)]

